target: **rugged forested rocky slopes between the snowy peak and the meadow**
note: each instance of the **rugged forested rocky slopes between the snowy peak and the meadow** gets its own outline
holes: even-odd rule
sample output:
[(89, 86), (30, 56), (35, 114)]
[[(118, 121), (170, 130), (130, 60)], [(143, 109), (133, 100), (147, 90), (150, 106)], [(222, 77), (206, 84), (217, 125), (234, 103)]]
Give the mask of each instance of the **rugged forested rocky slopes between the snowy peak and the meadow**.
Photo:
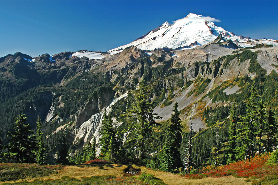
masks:
[[(178, 172), (271, 152), (277, 53), (277, 46), (215, 41), (149, 53), (131, 46), (100, 59), (7, 55), (0, 58), (2, 160), (19, 160), (19, 123), (29, 133), (21, 140), (29, 142), (27, 162), (37, 161), (39, 135), (49, 164), (100, 157)], [(43, 134), (33, 134), (38, 129)]]

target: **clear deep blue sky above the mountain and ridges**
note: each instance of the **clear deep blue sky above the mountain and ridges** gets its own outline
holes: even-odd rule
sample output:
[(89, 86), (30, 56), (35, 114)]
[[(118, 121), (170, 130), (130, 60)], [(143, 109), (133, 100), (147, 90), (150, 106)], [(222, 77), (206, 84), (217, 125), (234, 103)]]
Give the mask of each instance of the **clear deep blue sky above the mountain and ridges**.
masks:
[(32, 57), (128, 44), (188, 13), (220, 19), (236, 35), (278, 39), (278, 1), (0, 0), (0, 57)]

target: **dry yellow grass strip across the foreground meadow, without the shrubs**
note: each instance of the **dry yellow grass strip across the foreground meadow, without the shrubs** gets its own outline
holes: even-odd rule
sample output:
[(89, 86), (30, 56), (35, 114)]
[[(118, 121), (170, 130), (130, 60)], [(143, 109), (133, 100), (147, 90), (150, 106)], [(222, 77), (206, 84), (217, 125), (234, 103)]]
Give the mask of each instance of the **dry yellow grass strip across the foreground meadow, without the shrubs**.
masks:
[[(123, 171), (128, 166), (122, 164), (81, 164), (65, 166), (59, 170), (57, 174), (50, 174), (41, 178), (27, 178), (19, 181), (33, 181), (34, 179), (61, 179), (63, 176), (70, 176), (77, 179), (81, 177), (91, 177), (95, 175), (115, 175), (117, 177), (123, 176)], [(142, 172), (153, 174), (154, 176), (162, 179), (168, 185), (250, 185), (251, 182), (246, 182), (245, 178), (236, 178), (233, 176), (226, 176), (221, 178), (204, 178), (204, 179), (185, 179), (178, 174), (166, 173), (163, 171), (151, 170), (143, 166), (132, 165), (134, 168), (140, 168)], [(2, 184), (2, 183), (0, 183)]]

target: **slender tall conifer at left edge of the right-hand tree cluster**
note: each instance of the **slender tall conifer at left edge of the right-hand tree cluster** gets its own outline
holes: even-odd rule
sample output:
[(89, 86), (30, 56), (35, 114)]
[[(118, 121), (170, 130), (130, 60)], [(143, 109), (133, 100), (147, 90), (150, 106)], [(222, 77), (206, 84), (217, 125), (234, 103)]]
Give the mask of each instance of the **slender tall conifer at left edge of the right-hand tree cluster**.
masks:
[(230, 125), (229, 125), (229, 141), (227, 145), (227, 163), (233, 163), (236, 161), (235, 158), (235, 147), (236, 147), (236, 124), (238, 122), (238, 116), (236, 115), (236, 107), (233, 105), (230, 109)]

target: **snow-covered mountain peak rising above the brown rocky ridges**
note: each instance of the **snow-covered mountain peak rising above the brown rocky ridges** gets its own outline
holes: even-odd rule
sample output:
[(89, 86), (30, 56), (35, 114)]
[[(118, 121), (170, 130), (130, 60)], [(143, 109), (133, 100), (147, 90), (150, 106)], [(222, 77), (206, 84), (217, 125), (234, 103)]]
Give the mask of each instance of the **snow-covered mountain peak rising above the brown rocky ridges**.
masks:
[(135, 45), (142, 50), (154, 50), (158, 48), (190, 49), (197, 45), (204, 45), (214, 41), (220, 34), (223, 41), (232, 40), (239, 47), (252, 47), (257, 44), (278, 45), (277, 40), (259, 39), (237, 36), (233, 32), (216, 26), (211, 20), (217, 20), (202, 15), (188, 14), (183, 19), (174, 21), (174, 24), (163, 23), (135, 41), (109, 50), (110, 53)]

